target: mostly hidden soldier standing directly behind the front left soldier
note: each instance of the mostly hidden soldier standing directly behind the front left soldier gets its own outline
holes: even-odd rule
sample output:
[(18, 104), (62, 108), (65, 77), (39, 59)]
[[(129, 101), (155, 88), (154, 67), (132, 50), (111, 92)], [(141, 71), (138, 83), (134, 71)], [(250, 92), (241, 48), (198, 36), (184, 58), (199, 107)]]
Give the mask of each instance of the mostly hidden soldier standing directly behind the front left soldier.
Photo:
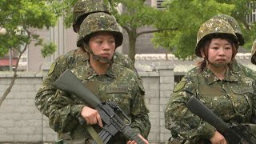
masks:
[[(104, 0), (78, 0), (78, 2), (74, 6), (74, 32), (78, 32), (78, 30), (80, 29), (80, 25), (84, 18), (86, 18), (86, 16), (98, 12), (109, 14)], [(122, 40), (121, 35), (116, 40), (118, 43), (116, 46), (120, 46), (122, 44), (122, 41), (120, 40)], [(78, 45), (77, 49), (71, 50), (66, 54), (62, 54), (55, 59), (55, 61), (51, 64), (50, 70), (44, 78), (42, 85), (39, 88), (34, 100), (35, 106), (42, 114), (46, 115), (46, 117), (49, 117), (50, 103), (54, 98), (54, 94), (56, 93), (54, 82), (57, 80), (57, 78), (66, 69), (84, 66), (88, 57), (88, 53), (83, 48), (83, 46)], [(114, 56), (111, 62), (115, 63), (118, 66), (124, 66), (130, 70), (133, 70), (137, 74), (139, 80), (142, 81), (137, 71), (135, 70), (134, 62), (132, 62), (130, 58), (127, 58), (125, 55), (118, 52), (114, 52)], [(141, 88), (142, 90), (144, 90), (143, 85), (141, 85)]]

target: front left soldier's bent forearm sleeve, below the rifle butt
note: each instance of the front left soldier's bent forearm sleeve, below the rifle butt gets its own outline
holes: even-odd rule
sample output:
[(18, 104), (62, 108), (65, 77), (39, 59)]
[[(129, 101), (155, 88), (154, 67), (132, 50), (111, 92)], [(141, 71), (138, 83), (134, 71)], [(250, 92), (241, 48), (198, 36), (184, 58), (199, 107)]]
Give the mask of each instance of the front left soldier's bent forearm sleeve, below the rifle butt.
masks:
[(70, 94), (58, 90), (50, 103), (49, 125), (58, 133), (66, 133), (78, 126), (82, 104), (75, 104)]

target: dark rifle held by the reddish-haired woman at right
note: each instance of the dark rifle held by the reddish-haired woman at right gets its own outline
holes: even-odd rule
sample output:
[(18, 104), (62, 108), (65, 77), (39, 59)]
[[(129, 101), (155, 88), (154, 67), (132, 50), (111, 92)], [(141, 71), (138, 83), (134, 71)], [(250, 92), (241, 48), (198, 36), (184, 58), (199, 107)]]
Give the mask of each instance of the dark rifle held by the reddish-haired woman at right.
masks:
[(229, 126), (216, 114), (209, 110), (198, 98), (191, 97), (186, 103), (186, 107), (198, 115), (202, 120), (214, 126), (220, 132), (228, 143), (255, 144), (256, 136), (244, 125)]

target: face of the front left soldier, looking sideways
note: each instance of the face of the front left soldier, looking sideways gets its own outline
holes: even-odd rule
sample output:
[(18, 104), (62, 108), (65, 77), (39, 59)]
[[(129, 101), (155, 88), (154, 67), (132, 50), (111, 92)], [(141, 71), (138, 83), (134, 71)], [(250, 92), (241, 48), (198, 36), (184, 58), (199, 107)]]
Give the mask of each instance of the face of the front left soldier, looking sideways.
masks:
[(109, 32), (100, 32), (90, 38), (89, 46), (95, 55), (111, 59), (115, 50), (114, 36)]

